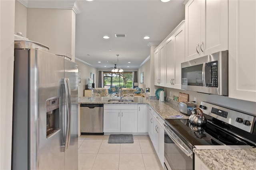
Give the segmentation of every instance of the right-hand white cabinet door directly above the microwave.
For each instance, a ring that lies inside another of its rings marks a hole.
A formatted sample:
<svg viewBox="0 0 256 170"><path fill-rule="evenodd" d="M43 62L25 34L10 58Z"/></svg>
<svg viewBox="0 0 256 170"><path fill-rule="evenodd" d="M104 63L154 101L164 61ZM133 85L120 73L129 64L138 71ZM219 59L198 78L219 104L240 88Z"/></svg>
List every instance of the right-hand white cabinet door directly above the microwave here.
<svg viewBox="0 0 256 170"><path fill-rule="evenodd" d="M201 56L228 49L228 0L206 0L205 8L205 19L201 19Z"/></svg>

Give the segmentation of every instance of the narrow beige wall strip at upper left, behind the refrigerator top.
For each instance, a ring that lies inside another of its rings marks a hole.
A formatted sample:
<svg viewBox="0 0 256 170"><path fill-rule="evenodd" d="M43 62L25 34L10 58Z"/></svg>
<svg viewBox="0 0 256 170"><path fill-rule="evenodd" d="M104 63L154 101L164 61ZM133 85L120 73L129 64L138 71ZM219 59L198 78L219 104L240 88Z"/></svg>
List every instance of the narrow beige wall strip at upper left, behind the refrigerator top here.
<svg viewBox="0 0 256 170"><path fill-rule="evenodd" d="M14 34L17 32L22 32L22 36L27 37L27 8L16 0Z"/></svg>

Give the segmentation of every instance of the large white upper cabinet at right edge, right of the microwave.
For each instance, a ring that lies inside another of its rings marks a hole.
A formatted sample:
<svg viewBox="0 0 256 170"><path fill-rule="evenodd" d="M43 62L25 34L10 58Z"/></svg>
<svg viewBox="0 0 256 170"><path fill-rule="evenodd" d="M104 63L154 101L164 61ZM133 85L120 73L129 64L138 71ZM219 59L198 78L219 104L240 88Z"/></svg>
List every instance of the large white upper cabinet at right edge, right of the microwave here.
<svg viewBox="0 0 256 170"><path fill-rule="evenodd" d="M256 1L228 4L228 97L256 102Z"/></svg>

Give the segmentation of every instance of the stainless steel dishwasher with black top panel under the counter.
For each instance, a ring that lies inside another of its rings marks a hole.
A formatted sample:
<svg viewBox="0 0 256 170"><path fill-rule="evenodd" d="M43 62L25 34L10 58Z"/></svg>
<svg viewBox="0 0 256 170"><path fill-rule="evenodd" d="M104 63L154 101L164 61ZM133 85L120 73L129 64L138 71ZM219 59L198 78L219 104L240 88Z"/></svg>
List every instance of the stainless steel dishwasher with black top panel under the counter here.
<svg viewBox="0 0 256 170"><path fill-rule="evenodd" d="M103 104L80 104L81 134L104 135Z"/></svg>

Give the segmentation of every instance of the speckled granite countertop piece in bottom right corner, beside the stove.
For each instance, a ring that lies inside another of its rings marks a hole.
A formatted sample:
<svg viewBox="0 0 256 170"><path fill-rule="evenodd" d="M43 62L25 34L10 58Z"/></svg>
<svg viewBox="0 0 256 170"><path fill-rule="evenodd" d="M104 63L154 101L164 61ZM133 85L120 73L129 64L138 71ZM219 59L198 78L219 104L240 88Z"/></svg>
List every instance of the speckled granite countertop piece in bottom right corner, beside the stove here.
<svg viewBox="0 0 256 170"><path fill-rule="evenodd" d="M195 149L194 153L210 170L255 170L256 148Z"/></svg>

